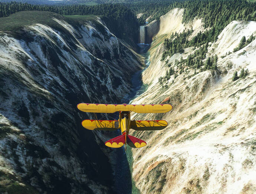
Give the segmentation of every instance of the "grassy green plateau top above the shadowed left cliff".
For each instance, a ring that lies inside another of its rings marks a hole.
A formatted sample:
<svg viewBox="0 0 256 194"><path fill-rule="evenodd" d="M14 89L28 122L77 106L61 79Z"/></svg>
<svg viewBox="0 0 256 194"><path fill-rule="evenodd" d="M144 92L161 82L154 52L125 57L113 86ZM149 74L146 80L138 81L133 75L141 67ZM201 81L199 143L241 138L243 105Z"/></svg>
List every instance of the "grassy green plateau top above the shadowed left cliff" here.
<svg viewBox="0 0 256 194"><path fill-rule="evenodd" d="M58 27L59 24L52 18L62 19L68 23L78 24L88 20L95 20L94 15L72 15L72 16L61 16L57 13L49 11L20 11L14 13L8 17L0 17L0 31L15 31L24 26L32 24L46 24L48 26Z"/></svg>

